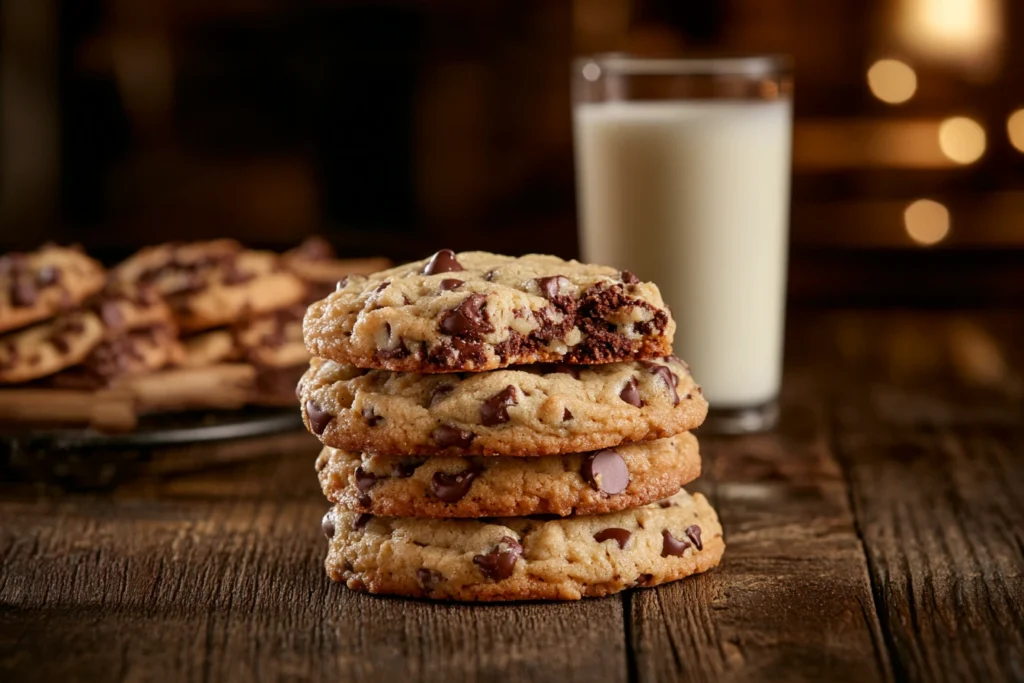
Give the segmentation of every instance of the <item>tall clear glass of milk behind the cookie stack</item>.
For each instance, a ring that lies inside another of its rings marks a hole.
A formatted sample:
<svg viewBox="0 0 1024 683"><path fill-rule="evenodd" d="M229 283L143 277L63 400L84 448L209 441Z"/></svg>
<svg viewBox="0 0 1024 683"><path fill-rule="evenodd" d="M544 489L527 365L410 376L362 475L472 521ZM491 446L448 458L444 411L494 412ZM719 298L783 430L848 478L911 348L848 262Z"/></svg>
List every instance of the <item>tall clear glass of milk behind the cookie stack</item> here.
<svg viewBox="0 0 1024 683"><path fill-rule="evenodd" d="M773 56L573 65L583 258L656 283L720 432L777 419L793 82Z"/></svg>

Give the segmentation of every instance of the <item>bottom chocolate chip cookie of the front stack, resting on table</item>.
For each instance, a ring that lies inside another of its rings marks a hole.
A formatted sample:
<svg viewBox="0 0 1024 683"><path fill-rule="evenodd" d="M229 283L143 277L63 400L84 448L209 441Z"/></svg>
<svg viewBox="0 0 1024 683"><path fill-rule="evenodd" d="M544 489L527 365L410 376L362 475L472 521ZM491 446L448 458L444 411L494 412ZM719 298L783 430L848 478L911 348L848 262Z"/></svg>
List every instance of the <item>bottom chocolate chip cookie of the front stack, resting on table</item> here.
<svg viewBox="0 0 1024 683"><path fill-rule="evenodd" d="M605 515L541 520L324 517L327 572L354 590L437 600L577 600L719 563L715 511L685 490Z"/></svg>

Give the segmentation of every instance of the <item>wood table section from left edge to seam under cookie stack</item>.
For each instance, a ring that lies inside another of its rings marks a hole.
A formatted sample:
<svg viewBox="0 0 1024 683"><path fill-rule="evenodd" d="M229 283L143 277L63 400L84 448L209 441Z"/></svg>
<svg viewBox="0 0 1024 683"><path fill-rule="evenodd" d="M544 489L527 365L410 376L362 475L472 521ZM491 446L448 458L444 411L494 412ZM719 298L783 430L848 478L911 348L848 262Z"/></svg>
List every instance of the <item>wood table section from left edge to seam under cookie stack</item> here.
<svg viewBox="0 0 1024 683"><path fill-rule="evenodd" d="M309 453L0 502L0 680L625 681L618 598L435 605L324 574Z"/></svg>

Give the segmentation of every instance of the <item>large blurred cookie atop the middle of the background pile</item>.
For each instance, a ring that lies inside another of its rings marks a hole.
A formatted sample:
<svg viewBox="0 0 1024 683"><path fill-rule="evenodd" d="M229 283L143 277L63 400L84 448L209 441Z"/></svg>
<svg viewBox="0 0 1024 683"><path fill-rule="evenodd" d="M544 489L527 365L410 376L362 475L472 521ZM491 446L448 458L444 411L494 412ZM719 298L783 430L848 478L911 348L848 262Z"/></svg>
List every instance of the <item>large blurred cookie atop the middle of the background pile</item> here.
<svg viewBox="0 0 1024 683"><path fill-rule="evenodd" d="M298 303L305 287L271 252L232 240L142 249L113 271L119 283L151 285L166 297L182 332L232 325Z"/></svg>

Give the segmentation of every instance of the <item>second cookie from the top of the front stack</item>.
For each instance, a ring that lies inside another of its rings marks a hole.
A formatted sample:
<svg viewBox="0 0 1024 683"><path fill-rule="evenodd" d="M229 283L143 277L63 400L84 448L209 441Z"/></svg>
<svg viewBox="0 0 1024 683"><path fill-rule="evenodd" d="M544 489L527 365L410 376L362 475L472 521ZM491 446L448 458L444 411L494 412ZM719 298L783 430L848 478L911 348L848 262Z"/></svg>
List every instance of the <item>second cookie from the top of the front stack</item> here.
<svg viewBox="0 0 1024 683"><path fill-rule="evenodd" d="M672 436L708 402L675 356L466 375L362 371L313 358L303 419L328 445L378 455L545 456Z"/></svg>

